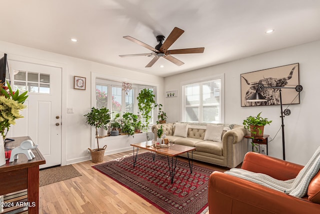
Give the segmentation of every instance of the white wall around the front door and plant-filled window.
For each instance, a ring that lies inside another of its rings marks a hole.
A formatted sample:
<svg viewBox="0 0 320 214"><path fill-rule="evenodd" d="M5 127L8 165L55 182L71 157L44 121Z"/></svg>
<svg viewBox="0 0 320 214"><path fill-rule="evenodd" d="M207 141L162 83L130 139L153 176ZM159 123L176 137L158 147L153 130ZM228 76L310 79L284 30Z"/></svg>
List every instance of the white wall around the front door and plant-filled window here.
<svg viewBox="0 0 320 214"><path fill-rule="evenodd" d="M130 70L119 69L99 63L94 63L82 59L68 57L64 55L45 52L37 49L27 48L0 41L0 54L7 54L8 59L21 60L30 63L39 63L62 68L62 164L70 164L90 159L87 152L94 142L94 132L85 123L84 114L91 108L91 72L101 74L101 76L111 75L129 82L144 81L147 85L158 86L158 94L164 94L163 78L154 75L142 74ZM86 90L73 89L73 76L86 77ZM93 81L94 83L94 81ZM163 97L158 97L158 102L163 102ZM73 114L67 114L66 108L74 108ZM93 133L93 135L91 134ZM135 137L118 136L118 140L125 141L125 147L129 143L137 141L141 136ZM110 142L114 142L113 138ZM107 144L108 140L101 140L101 144ZM114 142L116 143L116 142ZM110 146L112 147L112 146ZM113 151L118 151L113 148ZM108 150L106 151L108 153ZM110 152L109 152L110 153Z"/></svg>

